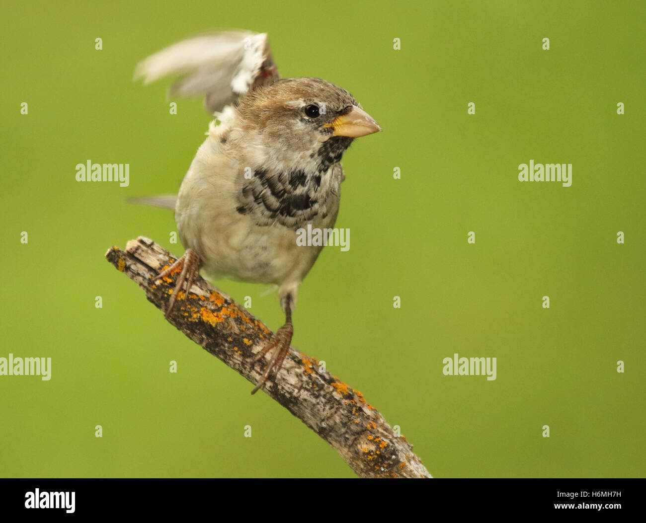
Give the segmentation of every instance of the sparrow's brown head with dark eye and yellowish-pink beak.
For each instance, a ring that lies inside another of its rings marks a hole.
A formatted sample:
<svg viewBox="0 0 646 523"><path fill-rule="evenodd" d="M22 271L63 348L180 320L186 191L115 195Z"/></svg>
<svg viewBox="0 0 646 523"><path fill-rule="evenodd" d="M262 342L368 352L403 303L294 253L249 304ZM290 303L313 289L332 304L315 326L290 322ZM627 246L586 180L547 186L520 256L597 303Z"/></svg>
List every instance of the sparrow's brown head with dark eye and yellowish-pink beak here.
<svg viewBox="0 0 646 523"><path fill-rule="evenodd" d="M277 157L314 163L319 171L339 161L354 138L381 130L348 91L319 78L257 88L240 98L236 112Z"/></svg>

